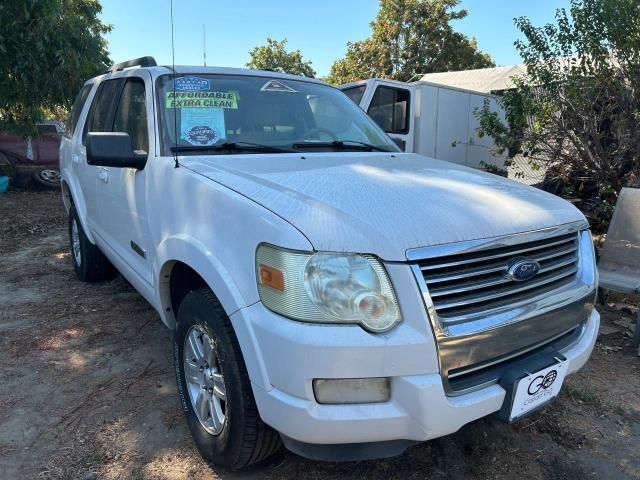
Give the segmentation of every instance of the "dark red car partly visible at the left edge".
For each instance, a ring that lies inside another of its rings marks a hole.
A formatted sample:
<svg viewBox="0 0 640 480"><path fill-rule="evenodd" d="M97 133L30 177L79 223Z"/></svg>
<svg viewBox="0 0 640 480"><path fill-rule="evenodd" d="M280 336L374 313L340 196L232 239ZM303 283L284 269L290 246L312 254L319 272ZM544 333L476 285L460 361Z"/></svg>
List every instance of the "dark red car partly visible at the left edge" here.
<svg viewBox="0 0 640 480"><path fill-rule="evenodd" d="M40 185L60 188L59 150L64 126L43 122L37 128L38 136L27 139L0 132L0 174L31 175Z"/></svg>

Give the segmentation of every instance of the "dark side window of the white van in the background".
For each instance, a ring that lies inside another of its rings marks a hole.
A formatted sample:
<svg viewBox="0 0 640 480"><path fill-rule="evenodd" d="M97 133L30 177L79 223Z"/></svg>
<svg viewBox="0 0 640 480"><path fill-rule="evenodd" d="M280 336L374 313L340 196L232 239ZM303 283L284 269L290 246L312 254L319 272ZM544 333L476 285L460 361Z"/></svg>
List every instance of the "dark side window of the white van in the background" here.
<svg viewBox="0 0 640 480"><path fill-rule="evenodd" d="M378 87L367 113L387 133L409 131L409 90Z"/></svg>

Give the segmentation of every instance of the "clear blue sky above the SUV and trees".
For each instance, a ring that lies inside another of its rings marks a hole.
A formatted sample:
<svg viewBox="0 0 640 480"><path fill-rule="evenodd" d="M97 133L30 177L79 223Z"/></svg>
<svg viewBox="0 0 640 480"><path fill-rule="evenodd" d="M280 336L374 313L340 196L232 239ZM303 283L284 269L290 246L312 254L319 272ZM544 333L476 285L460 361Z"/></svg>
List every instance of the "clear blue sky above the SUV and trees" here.
<svg viewBox="0 0 640 480"><path fill-rule="evenodd" d="M513 19L525 16L535 25L554 20L569 0L463 0L469 15L452 23L475 37L497 65L520 63L513 42L520 37ZM151 55L171 64L170 0L102 0L102 19L113 25L108 35L114 62ZM322 77L344 56L348 41L369 36L377 0L174 0L175 63L244 67L249 51L267 37L288 40L300 49ZM203 42L203 25L206 42Z"/></svg>

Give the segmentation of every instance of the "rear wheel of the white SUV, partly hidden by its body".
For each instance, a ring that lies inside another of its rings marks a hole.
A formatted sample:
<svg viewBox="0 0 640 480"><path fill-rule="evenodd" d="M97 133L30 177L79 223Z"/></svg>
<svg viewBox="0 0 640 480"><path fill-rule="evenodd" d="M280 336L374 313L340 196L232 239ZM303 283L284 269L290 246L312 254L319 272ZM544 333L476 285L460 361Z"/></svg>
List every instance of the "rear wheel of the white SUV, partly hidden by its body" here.
<svg viewBox="0 0 640 480"><path fill-rule="evenodd" d="M101 282L115 276L116 269L111 262L84 233L73 204L69 209L69 248L73 269L81 282Z"/></svg>

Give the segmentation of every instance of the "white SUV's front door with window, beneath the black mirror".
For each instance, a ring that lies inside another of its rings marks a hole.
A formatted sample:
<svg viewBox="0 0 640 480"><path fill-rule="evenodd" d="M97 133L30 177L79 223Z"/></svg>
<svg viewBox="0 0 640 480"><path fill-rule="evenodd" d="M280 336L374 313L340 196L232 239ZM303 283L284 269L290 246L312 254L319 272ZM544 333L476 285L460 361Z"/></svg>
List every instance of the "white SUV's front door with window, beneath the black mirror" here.
<svg viewBox="0 0 640 480"><path fill-rule="evenodd" d="M140 76L138 76L140 75ZM134 150L149 153L153 109L151 78L146 72L125 79L114 107L112 132L125 132ZM98 233L116 255L147 283L152 283L153 249L147 222L147 171L98 167Z"/></svg>

